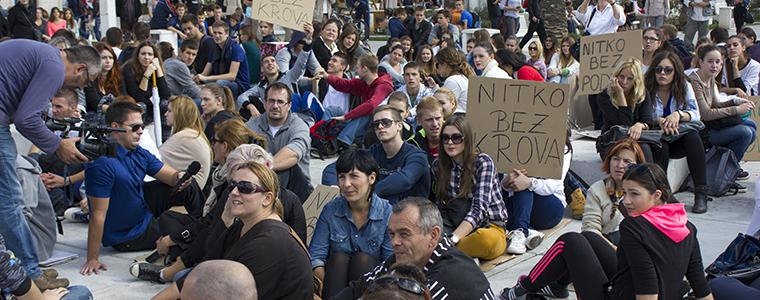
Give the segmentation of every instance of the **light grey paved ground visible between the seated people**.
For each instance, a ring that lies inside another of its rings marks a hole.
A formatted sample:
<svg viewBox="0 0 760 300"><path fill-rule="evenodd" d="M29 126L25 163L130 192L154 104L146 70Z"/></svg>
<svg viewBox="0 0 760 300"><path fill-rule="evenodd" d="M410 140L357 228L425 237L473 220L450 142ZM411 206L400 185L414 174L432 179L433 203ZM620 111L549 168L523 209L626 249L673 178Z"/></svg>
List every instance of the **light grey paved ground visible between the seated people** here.
<svg viewBox="0 0 760 300"><path fill-rule="evenodd" d="M755 30L759 30L760 26ZM733 30L731 30L733 31ZM371 42L373 49L381 46L383 42ZM598 159L594 160L593 142L588 140L576 140L573 142L576 153L577 164L574 163L573 169L584 170L582 176L588 178L601 177L597 173ZM574 159L575 161L575 159ZM330 161L312 160L311 173L313 182L318 183L321 179L321 170ZM736 236L738 232L746 230L752 215L754 207L754 181L760 174L760 163L745 162L742 164L744 169L752 175L750 180L745 182L749 191L745 194L739 194L732 197L722 197L711 202L708 213L704 215L690 214L689 219L699 229L699 240L702 246L702 257L705 265L712 262L715 257L722 252L724 247ZM677 198L690 207L692 204L692 195L690 193L680 193ZM551 243L564 232L579 231L580 221L571 221L562 230L549 237L537 249L517 257L507 263L504 263L486 275L488 276L491 287L494 291L499 291L506 286L511 286L522 274L527 274L531 267L538 261L541 255L551 246ZM64 235L58 237L56 248L60 250L75 252L80 255L77 260L70 261L56 268L61 276L67 277L72 284L82 284L88 286L96 299L147 299L166 285L153 284L148 282L136 281L128 273L128 266L132 260L142 253L118 253L110 248L101 250L101 261L109 266L109 270L100 275L82 276L79 275L79 269L84 263L86 255L87 227L85 224L64 223ZM574 299L574 298L572 298Z"/></svg>

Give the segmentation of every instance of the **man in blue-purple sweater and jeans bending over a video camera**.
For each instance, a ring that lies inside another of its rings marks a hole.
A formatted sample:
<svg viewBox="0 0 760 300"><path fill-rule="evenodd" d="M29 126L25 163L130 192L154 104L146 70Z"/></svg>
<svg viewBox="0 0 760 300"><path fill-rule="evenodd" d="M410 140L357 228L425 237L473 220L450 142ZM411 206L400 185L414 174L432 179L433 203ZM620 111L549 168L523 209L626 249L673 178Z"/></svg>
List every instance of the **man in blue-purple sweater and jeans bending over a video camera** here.
<svg viewBox="0 0 760 300"><path fill-rule="evenodd" d="M100 55L92 47L58 50L35 41L17 39L0 43L0 235L21 260L40 289L56 286L42 275L34 238L22 215L21 185L16 176L16 143L10 125L46 153L66 163L83 163L78 138L61 139L45 127L42 110L62 86L84 87L100 74ZM12 53L12 54L11 54Z"/></svg>

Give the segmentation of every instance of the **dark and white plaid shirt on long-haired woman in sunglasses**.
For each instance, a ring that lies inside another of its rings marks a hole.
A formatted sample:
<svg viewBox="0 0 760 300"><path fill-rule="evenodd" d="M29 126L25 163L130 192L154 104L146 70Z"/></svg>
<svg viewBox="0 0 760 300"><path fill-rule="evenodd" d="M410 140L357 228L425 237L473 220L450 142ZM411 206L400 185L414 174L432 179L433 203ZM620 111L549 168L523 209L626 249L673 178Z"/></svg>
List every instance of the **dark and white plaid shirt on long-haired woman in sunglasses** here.
<svg viewBox="0 0 760 300"><path fill-rule="evenodd" d="M436 165L437 162L436 160ZM437 169L437 167L433 168L435 171ZM462 172L464 172L462 166L454 163L447 189L449 199L456 198L456 195L459 194ZM464 220L476 228L486 221L506 222L507 209L501 195L501 184L493 159L488 154L478 154L472 180L474 180L475 185L472 186L472 191L467 194L467 198L472 199L472 205Z"/></svg>

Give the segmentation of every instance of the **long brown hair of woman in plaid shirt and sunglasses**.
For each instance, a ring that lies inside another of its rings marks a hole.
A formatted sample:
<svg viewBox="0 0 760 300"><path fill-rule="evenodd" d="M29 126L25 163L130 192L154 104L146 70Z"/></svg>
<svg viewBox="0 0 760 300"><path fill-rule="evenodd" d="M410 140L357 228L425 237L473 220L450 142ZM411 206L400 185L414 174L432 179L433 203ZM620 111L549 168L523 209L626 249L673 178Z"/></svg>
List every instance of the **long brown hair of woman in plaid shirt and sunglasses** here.
<svg viewBox="0 0 760 300"><path fill-rule="evenodd" d="M463 116L454 115L443 123L442 128L446 126L454 126L459 129L459 132L464 136L464 151L462 152L462 179L459 181L459 194L454 195L457 198L465 198L472 191L475 182L473 180L475 176L475 161L478 158L478 153L475 150L475 140L472 136L472 129L470 124L467 123L467 119ZM442 131L443 132L443 131ZM449 181L451 180L451 170L454 168L454 159L446 154L446 150L443 149L445 141L441 139L438 144L438 165L436 180L438 186L435 189L436 198L438 200L449 200Z"/></svg>

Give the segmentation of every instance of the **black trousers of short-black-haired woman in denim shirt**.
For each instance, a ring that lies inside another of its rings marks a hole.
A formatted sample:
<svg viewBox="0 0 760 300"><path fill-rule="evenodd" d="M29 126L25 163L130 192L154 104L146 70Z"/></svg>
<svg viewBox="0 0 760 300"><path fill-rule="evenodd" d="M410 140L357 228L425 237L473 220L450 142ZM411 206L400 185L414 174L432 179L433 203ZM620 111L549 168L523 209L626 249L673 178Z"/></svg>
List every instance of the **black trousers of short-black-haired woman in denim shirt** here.
<svg viewBox="0 0 760 300"><path fill-rule="evenodd" d="M354 254L330 253L325 264L325 284L322 299L331 299L347 287L349 282L372 271L377 264L377 258L364 252Z"/></svg>

